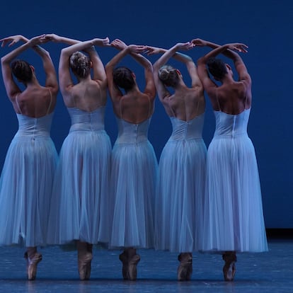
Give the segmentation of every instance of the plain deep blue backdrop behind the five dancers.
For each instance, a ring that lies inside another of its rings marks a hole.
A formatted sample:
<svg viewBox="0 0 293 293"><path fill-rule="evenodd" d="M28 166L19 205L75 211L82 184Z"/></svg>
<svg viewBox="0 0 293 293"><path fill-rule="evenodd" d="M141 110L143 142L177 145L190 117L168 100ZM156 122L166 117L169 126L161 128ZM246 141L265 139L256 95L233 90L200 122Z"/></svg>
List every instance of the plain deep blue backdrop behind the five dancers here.
<svg viewBox="0 0 293 293"><path fill-rule="evenodd" d="M91 3L92 2L92 3ZM284 3L282 3L284 2ZM292 197L292 94L289 69L292 66L293 4L289 1L6 1L1 4L0 37L22 34L28 38L42 33L88 40L94 37L120 38L128 44L171 47L176 42L203 38L223 44L244 42L248 54L242 55L253 79L253 109L248 133L255 145L263 207L267 228L293 228ZM60 44L46 44L57 69ZM0 49L3 56L11 49ZM104 64L117 52L97 48ZM207 52L197 48L188 52L193 59ZM158 56L151 56L155 62ZM35 65L44 81L40 59L25 52L23 59ZM130 58L125 59L143 86L143 71ZM174 63L183 76L185 71ZM185 74L186 76L186 74ZM12 105L0 81L0 167L18 124ZM106 112L106 130L112 142L117 135L110 100ZM59 100L52 125L52 139L59 151L69 130L69 115ZM207 101L204 139L208 145L214 132L214 116ZM171 125L159 100L151 122L149 139L156 155L171 133Z"/></svg>

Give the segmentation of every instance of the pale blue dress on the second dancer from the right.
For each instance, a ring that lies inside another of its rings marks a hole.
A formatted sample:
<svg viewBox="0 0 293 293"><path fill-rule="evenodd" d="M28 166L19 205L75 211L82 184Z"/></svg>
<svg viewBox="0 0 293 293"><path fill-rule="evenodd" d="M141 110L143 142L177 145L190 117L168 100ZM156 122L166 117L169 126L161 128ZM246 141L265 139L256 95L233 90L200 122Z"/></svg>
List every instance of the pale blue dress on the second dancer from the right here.
<svg viewBox="0 0 293 293"><path fill-rule="evenodd" d="M202 240L205 160L202 139L205 114L183 121L170 117L173 132L159 161L156 188L156 249L197 251Z"/></svg>

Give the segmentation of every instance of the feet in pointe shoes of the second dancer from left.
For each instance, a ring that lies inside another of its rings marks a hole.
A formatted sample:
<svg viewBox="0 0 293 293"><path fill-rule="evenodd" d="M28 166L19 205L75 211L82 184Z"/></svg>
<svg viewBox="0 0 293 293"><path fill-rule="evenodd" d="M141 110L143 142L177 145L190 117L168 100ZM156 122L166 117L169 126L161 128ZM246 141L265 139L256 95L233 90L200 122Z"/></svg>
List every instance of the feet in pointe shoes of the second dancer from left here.
<svg viewBox="0 0 293 293"><path fill-rule="evenodd" d="M79 263L79 279L89 280L91 277L93 244L77 241L77 258Z"/></svg>

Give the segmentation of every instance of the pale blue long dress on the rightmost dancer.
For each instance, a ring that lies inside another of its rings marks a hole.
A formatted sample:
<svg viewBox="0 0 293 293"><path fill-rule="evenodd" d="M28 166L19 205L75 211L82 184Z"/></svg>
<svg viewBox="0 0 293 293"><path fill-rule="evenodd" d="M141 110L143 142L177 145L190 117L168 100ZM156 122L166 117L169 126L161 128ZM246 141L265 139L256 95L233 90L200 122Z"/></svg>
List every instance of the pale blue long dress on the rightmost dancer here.
<svg viewBox="0 0 293 293"><path fill-rule="evenodd" d="M214 111L216 130L207 151L203 251L268 250L258 164L247 134L250 112Z"/></svg>

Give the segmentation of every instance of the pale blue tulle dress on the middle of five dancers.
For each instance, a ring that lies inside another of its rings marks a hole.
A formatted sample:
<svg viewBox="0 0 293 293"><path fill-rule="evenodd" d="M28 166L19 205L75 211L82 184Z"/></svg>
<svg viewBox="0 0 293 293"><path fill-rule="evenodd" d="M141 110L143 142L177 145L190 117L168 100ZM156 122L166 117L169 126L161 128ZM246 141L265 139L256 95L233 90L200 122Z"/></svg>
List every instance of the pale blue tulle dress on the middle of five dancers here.
<svg viewBox="0 0 293 293"><path fill-rule="evenodd" d="M150 120L134 124L117 118L111 175L113 248L154 247L157 161L147 138Z"/></svg>

